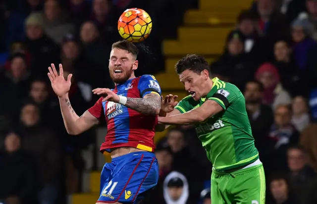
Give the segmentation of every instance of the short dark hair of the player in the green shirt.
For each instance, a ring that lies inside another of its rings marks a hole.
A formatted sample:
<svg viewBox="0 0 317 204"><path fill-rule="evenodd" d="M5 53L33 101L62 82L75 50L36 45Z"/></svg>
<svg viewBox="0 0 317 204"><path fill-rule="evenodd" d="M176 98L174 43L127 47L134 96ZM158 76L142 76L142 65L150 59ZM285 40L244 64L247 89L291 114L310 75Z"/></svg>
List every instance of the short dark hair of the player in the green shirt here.
<svg viewBox="0 0 317 204"><path fill-rule="evenodd" d="M197 54L188 54L175 64L175 71L179 75L185 70L191 70L197 74L200 74L204 70L208 70L209 76L211 71L205 57Z"/></svg>

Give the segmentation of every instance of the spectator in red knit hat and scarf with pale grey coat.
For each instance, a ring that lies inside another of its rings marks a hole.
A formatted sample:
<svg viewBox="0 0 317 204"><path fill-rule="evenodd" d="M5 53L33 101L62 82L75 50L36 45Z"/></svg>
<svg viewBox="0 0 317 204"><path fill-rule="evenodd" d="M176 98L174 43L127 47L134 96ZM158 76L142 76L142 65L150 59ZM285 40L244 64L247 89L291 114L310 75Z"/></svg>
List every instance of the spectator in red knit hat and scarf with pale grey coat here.
<svg viewBox="0 0 317 204"><path fill-rule="evenodd" d="M261 65L255 74L255 79L264 87L264 104L272 106L273 110L279 104L291 104L291 96L280 83L280 75L274 65L270 63Z"/></svg>

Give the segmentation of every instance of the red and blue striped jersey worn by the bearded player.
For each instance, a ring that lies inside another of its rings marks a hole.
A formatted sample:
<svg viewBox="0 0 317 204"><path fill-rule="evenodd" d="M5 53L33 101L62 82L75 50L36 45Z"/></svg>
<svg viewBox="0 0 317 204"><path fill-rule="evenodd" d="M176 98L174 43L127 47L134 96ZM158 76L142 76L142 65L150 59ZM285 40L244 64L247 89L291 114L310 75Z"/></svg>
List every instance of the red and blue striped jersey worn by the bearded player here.
<svg viewBox="0 0 317 204"><path fill-rule="evenodd" d="M161 94L159 82L151 75L143 75L117 84L112 91L130 98L143 98L149 93ZM101 97L88 111L99 120L106 119L107 134L101 152L112 148L135 147L154 152L155 126L158 116L141 114L119 103L102 101Z"/></svg>

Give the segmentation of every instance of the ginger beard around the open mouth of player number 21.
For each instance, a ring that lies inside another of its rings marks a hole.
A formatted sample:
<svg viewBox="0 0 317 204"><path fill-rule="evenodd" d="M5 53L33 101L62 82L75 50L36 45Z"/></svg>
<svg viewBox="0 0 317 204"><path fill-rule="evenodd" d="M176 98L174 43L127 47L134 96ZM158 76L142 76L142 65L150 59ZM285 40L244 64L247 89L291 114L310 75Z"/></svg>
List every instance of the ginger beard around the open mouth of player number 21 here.
<svg viewBox="0 0 317 204"><path fill-rule="evenodd" d="M124 69L122 66L113 66L109 65L109 73L111 80L115 83L124 83L131 78L133 75L133 64L129 69Z"/></svg>

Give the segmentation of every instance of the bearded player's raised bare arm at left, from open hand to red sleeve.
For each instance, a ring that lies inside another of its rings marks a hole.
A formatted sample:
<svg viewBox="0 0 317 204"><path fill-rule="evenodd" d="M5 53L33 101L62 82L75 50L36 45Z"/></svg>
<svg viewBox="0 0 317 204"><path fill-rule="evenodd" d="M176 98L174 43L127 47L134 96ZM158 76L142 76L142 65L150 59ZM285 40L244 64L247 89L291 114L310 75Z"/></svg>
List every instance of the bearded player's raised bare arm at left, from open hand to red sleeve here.
<svg viewBox="0 0 317 204"><path fill-rule="evenodd" d="M68 98L72 75L68 75L67 80L65 80L62 65L59 64L59 75L54 64L51 64L51 66L52 67L49 67L48 76L50 78L53 91L58 96L61 114L68 134L80 134L97 124L99 120L88 111L79 117L72 108Z"/></svg>

